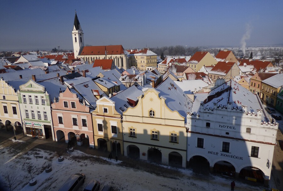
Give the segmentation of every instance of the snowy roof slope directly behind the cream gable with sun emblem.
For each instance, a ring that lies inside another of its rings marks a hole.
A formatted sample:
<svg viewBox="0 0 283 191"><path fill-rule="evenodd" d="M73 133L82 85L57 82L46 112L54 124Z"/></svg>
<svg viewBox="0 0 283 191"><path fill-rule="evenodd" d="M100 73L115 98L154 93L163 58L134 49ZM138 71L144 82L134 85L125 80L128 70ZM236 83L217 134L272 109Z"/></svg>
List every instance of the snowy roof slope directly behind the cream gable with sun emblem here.
<svg viewBox="0 0 283 191"><path fill-rule="evenodd" d="M186 114L191 111L193 102L175 81L167 78L163 83L158 85L156 90L160 92L159 96L165 99L165 104L169 109L179 112L185 118L186 123Z"/></svg>

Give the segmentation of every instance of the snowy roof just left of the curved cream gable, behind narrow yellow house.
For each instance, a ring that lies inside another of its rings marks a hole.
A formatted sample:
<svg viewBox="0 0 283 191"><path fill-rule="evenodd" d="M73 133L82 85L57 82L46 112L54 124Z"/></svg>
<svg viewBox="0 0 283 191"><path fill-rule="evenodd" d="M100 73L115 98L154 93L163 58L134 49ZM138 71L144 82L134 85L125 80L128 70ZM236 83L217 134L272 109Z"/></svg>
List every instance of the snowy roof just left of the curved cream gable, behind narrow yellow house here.
<svg viewBox="0 0 283 191"><path fill-rule="evenodd" d="M118 94L109 99L115 102L116 111L122 115L122 113L126 111L128 107L130 107L128 99L137 101L137 97L140 95L143 95L143 92L133 85L128 89L120 91Z"/></svg>

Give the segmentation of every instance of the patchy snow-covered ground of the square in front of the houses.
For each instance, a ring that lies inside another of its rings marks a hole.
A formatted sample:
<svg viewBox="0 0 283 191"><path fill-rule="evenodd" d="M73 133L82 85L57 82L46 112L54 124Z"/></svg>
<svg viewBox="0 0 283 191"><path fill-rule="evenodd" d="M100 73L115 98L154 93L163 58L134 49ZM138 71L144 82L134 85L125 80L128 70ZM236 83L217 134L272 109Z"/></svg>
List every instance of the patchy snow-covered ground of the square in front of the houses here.
<svg viewBox="0 0 283 191"><path fill-rule="evenodd" d="M17 142L16 144L21 144ZM1 145L0 145L1 146ZM52 151L33 149L24 154L14 153L10 147L0 147L0 175L6 173L17 177L14 190L58 190L71 174L84 173L85 183L80 187L82 191L91 179L96 179L103 185L112 185L115 190L230 190L231 179L218 176L202 176L188 169L178 169L180 176L151 174L143 170L137 170L121 165L121 161L92 156L75 150L64 154L64 161L58 162L58 156ZM52 171L46 173L44 164L47 159L52 159ZM29 186L31 175L27 167L33 166L32 176L37 184ZM170 168L161 166L160 168ZM158 169L158 166L157 168ZM1 177L0 176L0 177ZM4 178L3 178L4 180ZM262 187L253 187L236 181L236 190L263 190Z"/></svg>

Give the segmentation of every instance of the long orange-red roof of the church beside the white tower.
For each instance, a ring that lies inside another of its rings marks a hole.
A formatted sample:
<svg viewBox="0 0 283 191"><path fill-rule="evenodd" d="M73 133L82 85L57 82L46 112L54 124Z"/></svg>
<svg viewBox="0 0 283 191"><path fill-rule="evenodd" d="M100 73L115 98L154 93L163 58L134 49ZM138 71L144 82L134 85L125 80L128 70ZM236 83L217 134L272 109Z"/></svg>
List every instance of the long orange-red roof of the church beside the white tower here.
<svg viewBox="0 0 283 191"><path fill-rule="evenodd" d="M84 46L79 55L111 55L111 54L125 54L122 45L109 46Z"/></svg>

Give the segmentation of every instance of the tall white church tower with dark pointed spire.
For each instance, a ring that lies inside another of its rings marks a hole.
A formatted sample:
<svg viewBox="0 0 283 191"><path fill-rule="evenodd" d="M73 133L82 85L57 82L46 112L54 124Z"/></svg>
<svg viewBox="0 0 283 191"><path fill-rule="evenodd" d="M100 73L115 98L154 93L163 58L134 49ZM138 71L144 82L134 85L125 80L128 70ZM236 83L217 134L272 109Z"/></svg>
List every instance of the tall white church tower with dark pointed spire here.
<svg viewBox="0 0 283 191"><path fill-rule="evenodd" d="M80 48L85 46L84 33L81 30L77 12L75 14L75 21L74 21L74 27L72 30L72 37L73 37L74 55L75 55L75 58L77 58L80 52Z"/></svg>

